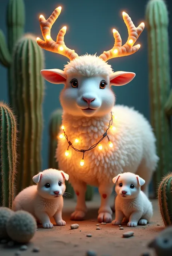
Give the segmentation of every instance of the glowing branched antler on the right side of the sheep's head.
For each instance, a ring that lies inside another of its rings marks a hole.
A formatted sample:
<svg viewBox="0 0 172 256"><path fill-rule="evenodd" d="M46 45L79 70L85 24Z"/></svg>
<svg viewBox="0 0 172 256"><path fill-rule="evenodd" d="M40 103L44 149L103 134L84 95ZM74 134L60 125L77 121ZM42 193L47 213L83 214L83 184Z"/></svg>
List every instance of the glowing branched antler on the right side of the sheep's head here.
<svg viewBox="0 0 172 256"><path fill-rule="evenodd" d="M144 30L144 23L142 22L137 28L133 24L131 18L126 12L122 13L124 23L128 29L128 39L127 42L122 46L122 39L119 32L116 29L113 29L115 43L112 49L107 52L103 52L99 58L102 58L104 61L110 60L111 58L123 57L131 55L137 52L140 48L140 44L134 45L142 31ZM134 46L133 46L134 45Z"/></svg>

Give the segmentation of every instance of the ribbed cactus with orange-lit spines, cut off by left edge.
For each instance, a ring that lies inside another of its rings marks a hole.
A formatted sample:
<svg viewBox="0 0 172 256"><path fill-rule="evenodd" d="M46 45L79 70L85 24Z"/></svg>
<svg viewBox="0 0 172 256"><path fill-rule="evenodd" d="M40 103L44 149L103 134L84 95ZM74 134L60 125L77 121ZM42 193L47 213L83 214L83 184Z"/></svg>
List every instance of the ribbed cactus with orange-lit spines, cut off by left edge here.
<svg viewBox="0 0 172 256"><path fill-rule="evenodd" d="M17 125L9 107L0 102L0 206L12 207L15 196Z"/></svg>

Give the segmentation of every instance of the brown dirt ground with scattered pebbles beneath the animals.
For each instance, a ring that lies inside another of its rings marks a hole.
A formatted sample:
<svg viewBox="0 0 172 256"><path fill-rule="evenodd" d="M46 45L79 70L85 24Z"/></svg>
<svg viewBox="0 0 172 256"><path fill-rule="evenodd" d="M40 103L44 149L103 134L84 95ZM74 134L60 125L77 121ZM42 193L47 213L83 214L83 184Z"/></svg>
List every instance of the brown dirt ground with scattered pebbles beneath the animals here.
<svg viewBox="0 0 172 256"><path fill-rule="evenodd" d="M114 198L111 198L113 205ZM147 243L151 241L158 232L163 229L157 200L152 200L154 215L152 222L146 226L129 228L123 225L123 230L111 223L99 225L100 230L96 230L97 211L100 205L99 195L94 196L94 200L87 202L88 213L86 220L74 222L70 220L70 213L74 210L75 199L64 200L63 219L66 221L65 227L54 226L52 229L43 229L38 226L38 231L28 244L27 251L21 251L21 256L85 256L87 250L97 253L97 256L140 256L148 250ZM114 218L114 214L113 214ZM78 229L70 229L70 225L78 223ZM157 225L160 224L160 225ZM122 233L134 231L134 236L123 238ZM92 237L86 237L91 233ZM40 252L32 252L33 247L39 247ZM20 248L16 245L8 248L7 245L0 245L0 256L12 256Z"/></svg>

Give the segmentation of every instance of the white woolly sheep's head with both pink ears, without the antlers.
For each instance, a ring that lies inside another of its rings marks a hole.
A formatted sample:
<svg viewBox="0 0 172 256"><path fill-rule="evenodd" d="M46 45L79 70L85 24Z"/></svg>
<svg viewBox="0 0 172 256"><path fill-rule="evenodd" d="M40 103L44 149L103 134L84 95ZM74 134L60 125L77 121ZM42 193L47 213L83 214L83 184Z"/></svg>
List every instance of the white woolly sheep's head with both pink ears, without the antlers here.
<svg viewBox="0 0 172 256"><path fill-rule="evenodd" d="M69 62L64 70L41 70L42 76L54 84L65 84L60 102L65 112L77 116L102 116L115 103L112 85L127 84L135 74L113 72L102 59L85 55Z"/></svg>

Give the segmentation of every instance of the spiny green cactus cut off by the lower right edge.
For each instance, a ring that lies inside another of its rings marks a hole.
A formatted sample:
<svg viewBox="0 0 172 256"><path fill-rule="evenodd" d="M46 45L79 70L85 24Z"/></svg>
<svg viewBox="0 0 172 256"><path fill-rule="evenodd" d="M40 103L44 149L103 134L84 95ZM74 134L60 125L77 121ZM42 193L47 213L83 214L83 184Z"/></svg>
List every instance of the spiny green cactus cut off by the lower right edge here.
<svg viewBox="0 0 172 256"><path fill-rule="evenodd" d="M166 175L161 181L158 201L165 226L172 225L172 173Z"/></svg>

